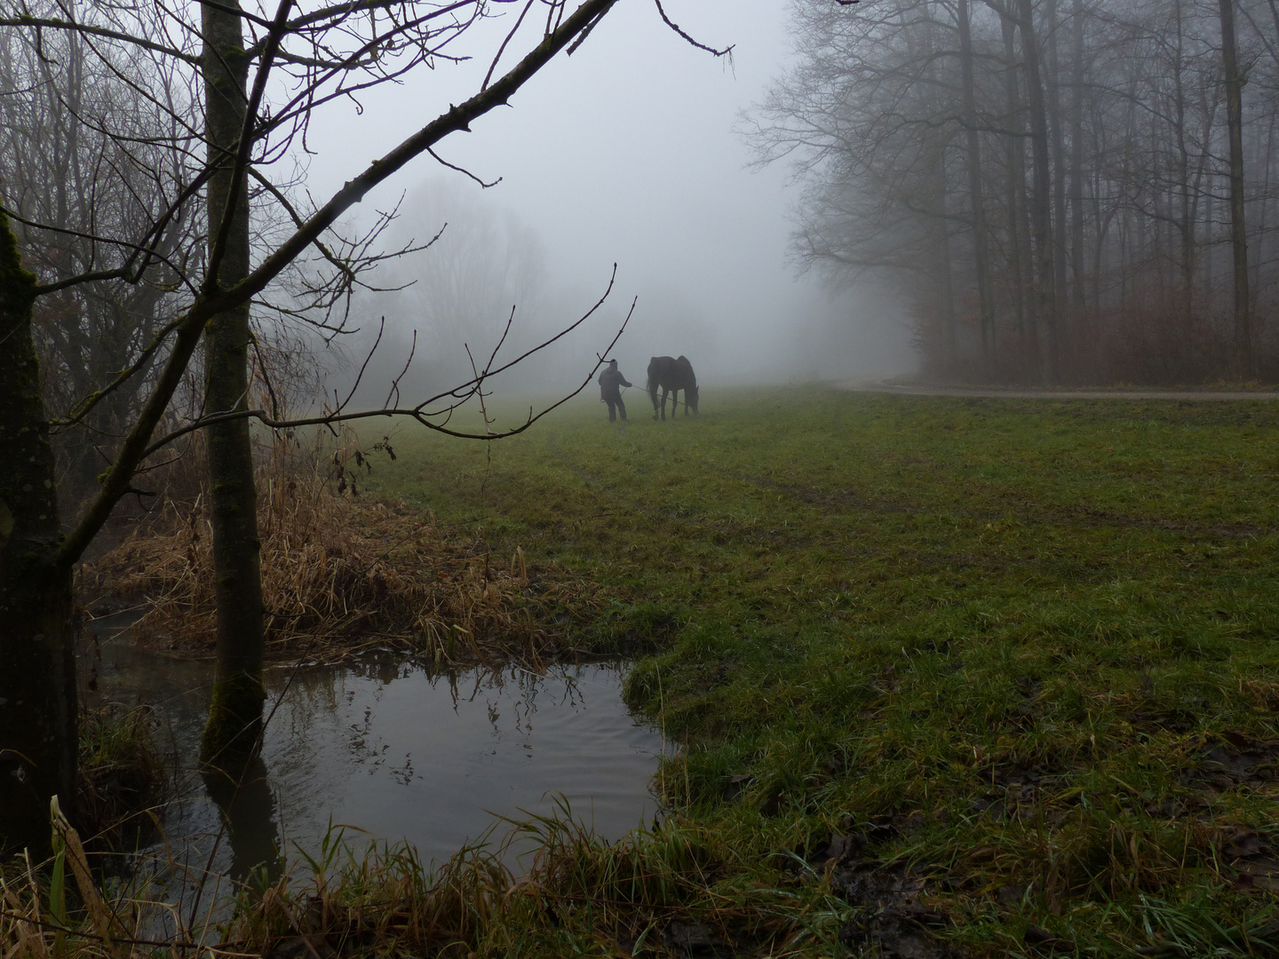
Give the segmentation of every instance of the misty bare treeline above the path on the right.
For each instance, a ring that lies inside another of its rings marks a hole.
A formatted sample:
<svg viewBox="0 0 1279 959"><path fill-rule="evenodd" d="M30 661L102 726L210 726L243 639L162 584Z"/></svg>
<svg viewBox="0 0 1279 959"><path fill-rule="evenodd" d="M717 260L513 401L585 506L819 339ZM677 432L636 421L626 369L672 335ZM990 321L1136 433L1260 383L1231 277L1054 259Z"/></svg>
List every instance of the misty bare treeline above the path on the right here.
<svg viewBox="0 0 1279 959"><path fill-rule="evenodd" d="M798 256L934 375L1279 378L1276 0L796 0L752 116Z"/></svg>

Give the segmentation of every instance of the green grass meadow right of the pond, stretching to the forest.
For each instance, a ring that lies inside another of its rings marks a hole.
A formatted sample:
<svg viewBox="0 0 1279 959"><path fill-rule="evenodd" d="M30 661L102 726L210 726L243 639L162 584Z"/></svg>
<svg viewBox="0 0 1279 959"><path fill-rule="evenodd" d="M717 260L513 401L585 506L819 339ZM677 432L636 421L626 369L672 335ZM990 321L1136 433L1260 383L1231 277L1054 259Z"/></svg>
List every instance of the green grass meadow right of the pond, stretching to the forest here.
<svg viewBox="0 0 1279 959"><path fill-rule="evenodd" d="M718 942L1279 955L1279 404L628 399L372 486L614 597Z"/></svg>

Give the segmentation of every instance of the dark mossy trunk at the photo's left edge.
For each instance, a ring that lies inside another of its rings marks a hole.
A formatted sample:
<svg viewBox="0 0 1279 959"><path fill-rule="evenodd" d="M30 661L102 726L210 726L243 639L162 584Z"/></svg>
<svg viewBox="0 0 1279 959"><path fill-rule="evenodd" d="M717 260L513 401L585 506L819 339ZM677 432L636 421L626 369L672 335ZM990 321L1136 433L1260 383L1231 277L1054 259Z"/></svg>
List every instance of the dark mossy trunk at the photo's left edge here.
<svg viewBox="0 0 1279 959"><path fill-rule="evenodd" d="M75 804L75 621L40 372L36 277L0 211L0 852L49 846L49 799Z"/></svg>

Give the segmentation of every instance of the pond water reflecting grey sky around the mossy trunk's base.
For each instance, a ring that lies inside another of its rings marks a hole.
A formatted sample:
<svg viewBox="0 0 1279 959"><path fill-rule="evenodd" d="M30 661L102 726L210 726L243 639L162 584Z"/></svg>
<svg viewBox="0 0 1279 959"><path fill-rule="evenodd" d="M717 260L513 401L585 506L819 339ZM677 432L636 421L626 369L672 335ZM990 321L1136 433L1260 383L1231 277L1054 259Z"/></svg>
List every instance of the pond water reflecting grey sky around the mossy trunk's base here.
<svg viewBox="0 0 1279 959"><path fill-rule="evenodd" d="M152 703L171 749L193 762L211 664L114 641L93 671L90 698ZM443 861L494 813L553 812L556 793L599 834L620 836L655 812L648 780L663 751L623 706L620 679L601 665L432 674L389 657L271 670L261 763L238 788L188 768L165 832L170 846L194 838L187 868L235 878L275 875L281 849L315 852L331 826Z"/></svg>

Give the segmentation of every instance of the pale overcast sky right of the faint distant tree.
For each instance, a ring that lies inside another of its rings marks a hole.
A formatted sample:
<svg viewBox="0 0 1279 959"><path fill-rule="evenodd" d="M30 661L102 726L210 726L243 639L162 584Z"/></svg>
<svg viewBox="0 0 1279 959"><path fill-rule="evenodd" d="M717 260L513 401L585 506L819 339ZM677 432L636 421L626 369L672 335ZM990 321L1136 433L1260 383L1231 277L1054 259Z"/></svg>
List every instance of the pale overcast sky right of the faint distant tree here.
<svg viewBox="0 0 1279 959"><path fill-rule="evenodd" d="M486 180L501 178L483 201L536 229L555 286L588 297L618 263L614 306L640 297L616 349L632 378L643 376L650 355L679 353L703 384L909 368L904 335L881 332L899 327L883 304L856 295L833 300L816 277L797 277L788 257L797 189L780 165L751 169L751 151L734 132L739 113L784 66L788 4L664 6L698 40L734 45L732 64L686 43L651 0L622 0L573 56L535 77L510 109L448 138L440 155ZM504 63L513 60L508 54ZM310 137L317 151L312 192L335 189L471 96L486 68L477 61L418 70L404 86L372 91L361 116L349 105L326 113ZM365 211L386 208L440 174L435 161L421 160L371 193ZM423 224L418 235L432 226Z"/></svg>

